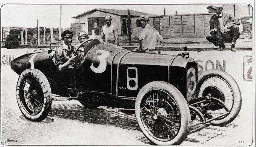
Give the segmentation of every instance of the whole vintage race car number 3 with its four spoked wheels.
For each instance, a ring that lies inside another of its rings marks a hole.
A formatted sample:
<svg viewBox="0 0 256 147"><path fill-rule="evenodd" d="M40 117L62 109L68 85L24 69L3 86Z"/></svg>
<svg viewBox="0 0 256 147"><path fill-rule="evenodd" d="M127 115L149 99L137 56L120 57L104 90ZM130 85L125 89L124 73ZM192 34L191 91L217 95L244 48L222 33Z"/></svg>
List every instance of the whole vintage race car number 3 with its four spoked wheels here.
<svg viewBox="0 0 256 147"><path fill-rule="evenodd" d="M179 55L151 54L86 40L75 51L82 60L63 72L48 52L23 55L11 62L20 75L18 107L31 121L47 117L52 94L89 108L115 107L135 113L142 132L154 144L181 144L197 116L205 124L225 125L241 108L235 80L220 70L198 77L197 62L184 50Z"/></svg>

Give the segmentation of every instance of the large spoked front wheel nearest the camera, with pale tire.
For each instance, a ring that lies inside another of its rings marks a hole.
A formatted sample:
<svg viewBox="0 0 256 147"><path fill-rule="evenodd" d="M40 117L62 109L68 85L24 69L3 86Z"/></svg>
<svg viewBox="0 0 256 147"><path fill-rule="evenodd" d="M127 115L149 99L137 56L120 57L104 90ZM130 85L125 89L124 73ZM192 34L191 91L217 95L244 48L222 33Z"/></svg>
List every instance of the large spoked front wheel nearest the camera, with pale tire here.
<svg viewBox="0 0 256 147"><path fill-rule="evenodd" d="M144 86L137 96L135 112L142 132L155 144L181 144L188 135L187 102L169 83L154 81Z"/></svg>

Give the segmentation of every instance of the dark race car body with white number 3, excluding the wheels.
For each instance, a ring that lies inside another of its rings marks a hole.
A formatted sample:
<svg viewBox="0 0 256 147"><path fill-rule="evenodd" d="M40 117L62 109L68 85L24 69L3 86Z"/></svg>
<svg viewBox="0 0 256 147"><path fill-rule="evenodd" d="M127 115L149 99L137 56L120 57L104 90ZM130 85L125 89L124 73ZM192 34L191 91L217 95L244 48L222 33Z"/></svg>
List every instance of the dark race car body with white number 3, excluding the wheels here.
<svg viewBox="0 0 256 147"><path fill-rule="evenodd" d="M29 68L39 69L53 94L68 96L83 89L88 95L99 95L93 101L105 103L99 100L104 96L107 102L118 102L113 103L115 107L134 108L140 89L152 81L171 83L187 100L196 98L197 63L192 58L134 52L111 43L93 46L77 69L58 71L48 52L23 55L13 60L11 67L17 74Z"/></svg>

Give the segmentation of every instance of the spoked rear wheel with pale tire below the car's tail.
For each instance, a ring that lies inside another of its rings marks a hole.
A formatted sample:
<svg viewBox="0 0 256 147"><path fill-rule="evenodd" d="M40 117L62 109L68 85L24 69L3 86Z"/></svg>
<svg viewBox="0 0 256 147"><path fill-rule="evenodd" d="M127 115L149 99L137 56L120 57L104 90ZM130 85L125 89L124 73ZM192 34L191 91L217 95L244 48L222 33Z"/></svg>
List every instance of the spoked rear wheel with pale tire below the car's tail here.
<svg viewBox="0 0 256 147"><path fill-rule="evenodd" d="M47 117L51 109L51 88L41 71L23 71L17 83L16 95L21 113L28 120L41 121Z"/></svg>

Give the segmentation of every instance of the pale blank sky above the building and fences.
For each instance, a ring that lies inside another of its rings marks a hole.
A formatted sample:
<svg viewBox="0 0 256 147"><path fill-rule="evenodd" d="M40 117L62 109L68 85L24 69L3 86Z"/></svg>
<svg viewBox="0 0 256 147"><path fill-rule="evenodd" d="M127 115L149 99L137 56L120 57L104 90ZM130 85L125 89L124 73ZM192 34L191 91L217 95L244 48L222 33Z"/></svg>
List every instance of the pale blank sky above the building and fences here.
<svg viewBox="0 0 256 147"><path fill-rule="evenodd" d="M75 19L71 17L95 8L136 10L158 15L207 13L209 5L62 5L62 27L67 28ZM59 27L60 5L6 4L1 7L1 27Z"/></svg>

